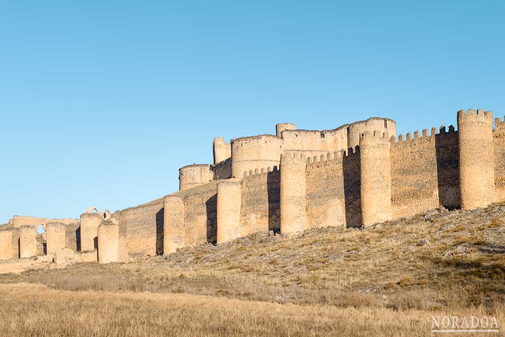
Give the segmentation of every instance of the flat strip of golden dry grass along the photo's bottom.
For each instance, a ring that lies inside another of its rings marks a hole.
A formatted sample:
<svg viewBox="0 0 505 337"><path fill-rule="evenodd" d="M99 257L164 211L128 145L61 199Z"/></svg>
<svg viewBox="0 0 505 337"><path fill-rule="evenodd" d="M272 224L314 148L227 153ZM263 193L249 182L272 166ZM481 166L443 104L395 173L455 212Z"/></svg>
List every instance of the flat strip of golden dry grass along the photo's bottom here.
<svg viewBox="0 0 505 337"><path fill-rule="evenodd" d="M0 332L17 336L425 336L432 315L496 315L504 308L392 310L276 304L197 295L70 292L0 285Z"/></svg>

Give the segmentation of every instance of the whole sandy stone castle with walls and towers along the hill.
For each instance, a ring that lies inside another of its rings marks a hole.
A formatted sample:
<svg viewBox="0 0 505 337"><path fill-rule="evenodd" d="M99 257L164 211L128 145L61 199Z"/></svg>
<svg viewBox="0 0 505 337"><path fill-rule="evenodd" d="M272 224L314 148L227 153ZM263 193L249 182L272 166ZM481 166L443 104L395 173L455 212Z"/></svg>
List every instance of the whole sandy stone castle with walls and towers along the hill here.
<svg viewBox="0 0 505 337"><path fill-rule="evenodd" d="M276 135L229 143L217 137L214 163L181 167L180 190L165 197L112 215L88 210L80 223L15 216L0 227L0 259L40 254L38 224L49 227L47 253L66 246L108 263L257 232L370 226L440 205L484 207L505 199L505 122L494 124L491 111L468 110L458 112L458 130L397 138L395 122L378 117L325 131L282 123Z"/></svg>

